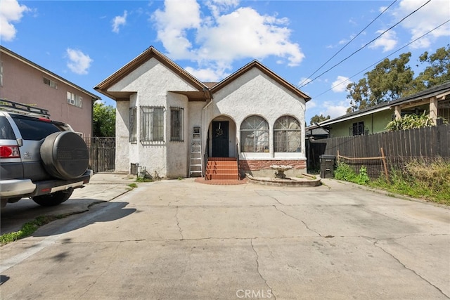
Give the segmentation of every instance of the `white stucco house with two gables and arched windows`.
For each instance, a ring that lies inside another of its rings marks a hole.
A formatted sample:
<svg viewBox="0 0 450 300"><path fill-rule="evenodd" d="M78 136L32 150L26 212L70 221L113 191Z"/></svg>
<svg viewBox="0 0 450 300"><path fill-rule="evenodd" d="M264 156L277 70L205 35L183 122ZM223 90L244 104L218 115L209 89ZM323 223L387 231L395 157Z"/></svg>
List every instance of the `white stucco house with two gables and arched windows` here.
<svg viewBox="0 0 450 300"><path fill-rule="evenodd" d="M241 174L273 176L273 164L306 171L310 98L256 60L203 83L150 47L94 89L117 103L117 172L139 164L162 177L189 176L194 128L202 157L236 157Z"/></svg>

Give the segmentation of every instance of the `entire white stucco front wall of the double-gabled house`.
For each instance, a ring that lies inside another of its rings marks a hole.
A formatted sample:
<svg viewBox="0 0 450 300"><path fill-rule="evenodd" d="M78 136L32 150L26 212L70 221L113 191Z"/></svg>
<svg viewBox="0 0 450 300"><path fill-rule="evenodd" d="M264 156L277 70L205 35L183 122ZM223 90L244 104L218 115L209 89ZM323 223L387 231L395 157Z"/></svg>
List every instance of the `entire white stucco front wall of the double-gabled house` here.
<svg viewBox="0 0 450 300"><path fill-rule="evenodd" d="M212 101L189 102L188 98L176 91L195 91L193 86L181 79L172 70L152 58L108 91L134 92L129 101L117 102L117 154L116 171L129 171L131 163L145 167L150 176L177 178L188 176L193 127L202 131L202 150L205 150L207 129L212 120L228 120L230 127L229 154L236 156L239 128L243 119L250 115L260 115L269 122L270 130L278 117L290 115L302 126L304 141L304 99L283 88L273 79L257 69L250 70L228 86L214 93ZM129 108L140 106L165 107L165 141L141 143L140 110L137 111L137 143L129 143ZM170 107L184 108L184 141L170 141ZM283 159L305 160L304 143L302 151L295 153L273 152L241 153L241 159Z"/></svg>

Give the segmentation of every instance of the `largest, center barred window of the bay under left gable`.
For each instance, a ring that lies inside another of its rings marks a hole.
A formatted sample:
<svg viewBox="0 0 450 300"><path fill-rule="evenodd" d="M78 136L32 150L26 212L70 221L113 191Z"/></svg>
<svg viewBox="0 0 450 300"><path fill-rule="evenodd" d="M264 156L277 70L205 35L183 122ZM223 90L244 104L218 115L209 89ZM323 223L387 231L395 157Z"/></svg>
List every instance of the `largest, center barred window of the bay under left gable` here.
<svg viewBox="0 0 450 300"><path fill-rule="evenodd" d="M164 107L141 106L141 142L164 142Z"/></svg>

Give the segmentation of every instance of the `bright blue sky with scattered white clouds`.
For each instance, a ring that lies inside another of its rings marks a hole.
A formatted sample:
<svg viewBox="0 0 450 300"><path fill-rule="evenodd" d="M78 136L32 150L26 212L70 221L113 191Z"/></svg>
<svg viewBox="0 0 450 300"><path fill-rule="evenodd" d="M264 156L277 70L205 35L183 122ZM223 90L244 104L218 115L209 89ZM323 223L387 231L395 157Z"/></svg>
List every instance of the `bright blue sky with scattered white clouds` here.
<svg viewBox="0 0 450 300"><path fill-rule="evenodd" d="M450 1L0 0L0 44L100 96L154 46L204 82L258 60L307 93L306 122L344 115L346 86L381 60L450 44Z"/></svg>

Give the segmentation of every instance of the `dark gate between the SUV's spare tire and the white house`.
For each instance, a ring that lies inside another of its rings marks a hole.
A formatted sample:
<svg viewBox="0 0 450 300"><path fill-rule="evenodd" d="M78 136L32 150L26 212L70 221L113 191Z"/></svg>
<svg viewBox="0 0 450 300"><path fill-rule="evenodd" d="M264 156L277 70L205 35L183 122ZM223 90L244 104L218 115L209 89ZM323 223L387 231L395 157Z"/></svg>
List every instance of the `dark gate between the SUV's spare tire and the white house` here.
<svg viewBox="0 0 450 300"><path fill-rule="evenodd" d="M89 168L94 173L115 170L115 138L84 138L89 149Z"/></svg>

